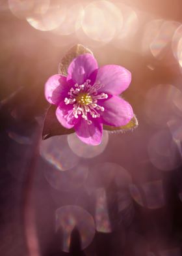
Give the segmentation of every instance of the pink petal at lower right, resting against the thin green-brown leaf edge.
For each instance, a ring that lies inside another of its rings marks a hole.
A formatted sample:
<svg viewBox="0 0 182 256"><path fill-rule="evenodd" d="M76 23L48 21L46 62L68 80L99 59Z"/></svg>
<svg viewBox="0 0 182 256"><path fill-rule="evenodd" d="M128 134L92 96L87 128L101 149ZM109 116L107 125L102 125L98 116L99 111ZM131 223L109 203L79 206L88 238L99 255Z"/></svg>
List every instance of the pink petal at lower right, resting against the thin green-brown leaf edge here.
<svg viewBox="0 0 182 256"><path fill-rule="evenodd" d="M101 104L101 101L99 101L99 104ZM134 116L131 105L118 96L112 96L107 101L103 101L102 105L105 110L100 114L105 125L126 125Z"/></svg>

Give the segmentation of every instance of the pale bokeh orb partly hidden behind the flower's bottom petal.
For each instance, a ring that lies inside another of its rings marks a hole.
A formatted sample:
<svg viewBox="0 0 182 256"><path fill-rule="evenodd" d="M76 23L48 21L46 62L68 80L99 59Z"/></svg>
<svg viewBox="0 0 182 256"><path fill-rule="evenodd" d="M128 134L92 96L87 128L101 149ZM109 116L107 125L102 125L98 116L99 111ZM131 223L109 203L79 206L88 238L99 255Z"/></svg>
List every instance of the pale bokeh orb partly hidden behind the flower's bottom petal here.
<svg viewBox="0 0 182 256"><path fill-rule="evenodd" d="M101 144L97 146L92 146L81 142L81 140L79 140L75 133L68 135L68 144L70 146L70 149L79 157L84 158L96 157L97 155L103 153L107 146L108 140L109 135L107 131L103 131L103 138Z"/></svg>

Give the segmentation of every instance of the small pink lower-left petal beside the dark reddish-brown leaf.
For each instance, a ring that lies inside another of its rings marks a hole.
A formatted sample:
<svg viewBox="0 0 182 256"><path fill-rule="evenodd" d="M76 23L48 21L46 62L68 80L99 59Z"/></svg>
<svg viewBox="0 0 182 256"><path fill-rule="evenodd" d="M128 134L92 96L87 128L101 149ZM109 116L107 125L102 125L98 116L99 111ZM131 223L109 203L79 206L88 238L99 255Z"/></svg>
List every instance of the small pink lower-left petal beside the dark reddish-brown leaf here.
<svg viewBox="0 0 182 256"><path fill-rule="evenodd" d="M73 116L73 105L66 105L64 102L59 104L56 110L56 116L60 124L68 129L72 128L79 121L79 119Z"/></svg>

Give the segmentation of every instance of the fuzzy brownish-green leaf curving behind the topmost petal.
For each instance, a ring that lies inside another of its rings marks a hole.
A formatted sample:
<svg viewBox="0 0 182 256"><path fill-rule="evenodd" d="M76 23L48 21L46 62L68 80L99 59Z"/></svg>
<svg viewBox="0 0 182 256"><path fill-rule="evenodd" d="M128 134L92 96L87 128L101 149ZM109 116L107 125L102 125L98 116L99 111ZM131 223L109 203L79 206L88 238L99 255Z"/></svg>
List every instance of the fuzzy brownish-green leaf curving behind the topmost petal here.
<svg viewBox="0 0 182 256"><path fill-rule="evenodd" d="M81 54L92 54L93 53L86 48L85 46L81 44L76 44L73 46L68 52L65 54L64 57L62 57L60 63L59 63L59 74L62 74L63 76L68 75L68 67L70 63L72 62L75 57L81 55Z"/></svg>

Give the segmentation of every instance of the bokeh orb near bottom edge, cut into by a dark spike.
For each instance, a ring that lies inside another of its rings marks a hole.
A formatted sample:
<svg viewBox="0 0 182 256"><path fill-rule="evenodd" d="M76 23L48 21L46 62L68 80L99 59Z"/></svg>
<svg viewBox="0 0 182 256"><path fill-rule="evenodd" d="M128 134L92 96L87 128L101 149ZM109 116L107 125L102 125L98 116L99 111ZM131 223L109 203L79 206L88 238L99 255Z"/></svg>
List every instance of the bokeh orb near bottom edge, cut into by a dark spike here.
<svg viewBox="0 0 182 256"><path fill-rule="evenodd" d="M77 229L81 240L81 249L85 249L92 242L95 235L93 217L79 206L63 206L56 210L56 227L62 230L62 250L69 252L72 231Z"/></svg>

